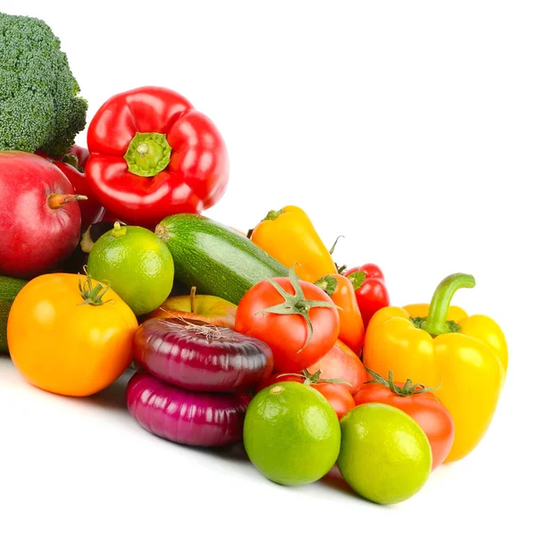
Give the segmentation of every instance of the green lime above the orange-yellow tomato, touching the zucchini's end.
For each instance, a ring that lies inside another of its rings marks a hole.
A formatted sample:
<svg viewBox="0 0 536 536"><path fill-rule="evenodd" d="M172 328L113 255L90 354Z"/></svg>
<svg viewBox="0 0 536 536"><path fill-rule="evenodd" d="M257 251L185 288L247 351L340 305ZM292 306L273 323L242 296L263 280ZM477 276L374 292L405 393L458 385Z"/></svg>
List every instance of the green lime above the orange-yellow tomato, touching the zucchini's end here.
<svg viewBox="0 0 536 536"><path fill-rule="evenodd" d="M97 281L109 282L138 316L163 304L172 291L175 272L170 250L154 232L116 223L91 248L88 273Z"/></svg>

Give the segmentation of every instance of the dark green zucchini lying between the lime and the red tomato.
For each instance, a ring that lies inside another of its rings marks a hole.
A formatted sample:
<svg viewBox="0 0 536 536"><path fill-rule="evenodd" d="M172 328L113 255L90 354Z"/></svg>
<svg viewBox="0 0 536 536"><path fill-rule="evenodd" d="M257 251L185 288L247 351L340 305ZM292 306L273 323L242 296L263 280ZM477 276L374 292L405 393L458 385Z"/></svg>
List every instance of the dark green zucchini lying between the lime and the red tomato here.
<svg viewBox="0 0 536 536"><path fill-rule="evenodd" d="M289 269L239 232L197 214L164 218L155 233L167 244L175 278L198 294L238 305L259 281L284 277Z"/></svg>

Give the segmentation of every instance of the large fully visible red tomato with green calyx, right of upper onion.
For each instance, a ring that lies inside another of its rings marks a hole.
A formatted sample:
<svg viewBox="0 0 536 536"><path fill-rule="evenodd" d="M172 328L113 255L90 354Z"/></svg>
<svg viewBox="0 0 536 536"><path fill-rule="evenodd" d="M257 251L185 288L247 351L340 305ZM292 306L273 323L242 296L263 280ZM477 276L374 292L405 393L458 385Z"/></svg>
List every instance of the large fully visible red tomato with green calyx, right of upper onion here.
<svg viewBox="0 0 536 536"><path fill-rule="evenodd" d="M289 296L284 297L271 281L279 283ZM235 330L261 339L272 348L276 373L298 373L318 361L335 344L339 337L339 313L331 297L313 283L296 279L297 289L288 277L271 281L260 281L242 297ZM297 296L297 291L304 296ZM311 300L331 306L307 303ZM263 313L273 306L281 306L281 314ZM311 331L300 312L309 315L313 325L311 339Z"/></svg>

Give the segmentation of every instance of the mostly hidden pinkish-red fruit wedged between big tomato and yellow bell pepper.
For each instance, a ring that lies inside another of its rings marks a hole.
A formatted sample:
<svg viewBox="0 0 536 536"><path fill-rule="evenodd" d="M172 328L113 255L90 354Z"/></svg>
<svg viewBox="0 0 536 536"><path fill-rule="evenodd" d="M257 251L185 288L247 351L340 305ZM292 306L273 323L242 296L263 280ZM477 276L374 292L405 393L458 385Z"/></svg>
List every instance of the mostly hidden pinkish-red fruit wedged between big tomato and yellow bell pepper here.
<svg viewBox="0 0 536 536"><path fill-rule="evenodd" d="M361 359L344 342L337 340L331 350L316 363L307 367L307 371L314 374L322 371L323 378L338 378L348 381L340 385L355 395L357 390L367 381L366 371Z"/></svg>

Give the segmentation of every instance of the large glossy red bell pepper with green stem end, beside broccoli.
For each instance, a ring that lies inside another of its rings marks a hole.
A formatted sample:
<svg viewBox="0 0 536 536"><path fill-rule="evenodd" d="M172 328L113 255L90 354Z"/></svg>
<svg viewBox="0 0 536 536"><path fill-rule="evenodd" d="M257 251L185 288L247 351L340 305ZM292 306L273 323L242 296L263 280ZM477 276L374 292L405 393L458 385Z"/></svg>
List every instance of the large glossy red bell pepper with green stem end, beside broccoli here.
<svg viewBox="0 0 536 536"><path fill-rule="evenodd" d="M165 216L201 214L229 180L214 123L179 93L147 86L108 99L88 126L86 176L121 222L154 229Z"/></svg>

